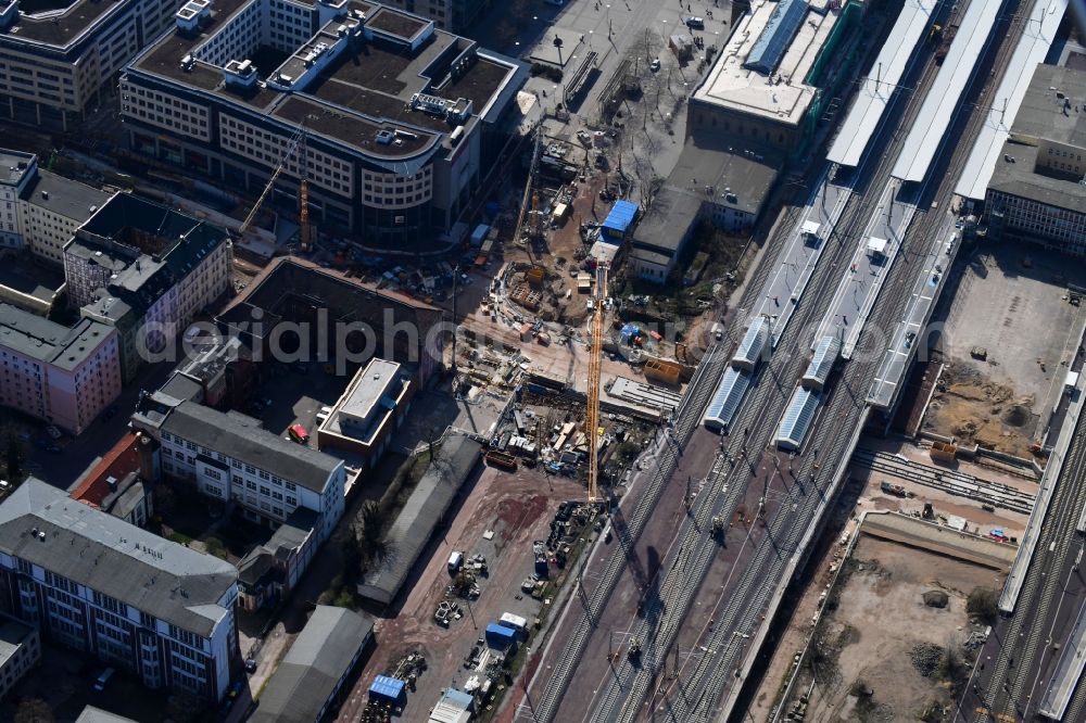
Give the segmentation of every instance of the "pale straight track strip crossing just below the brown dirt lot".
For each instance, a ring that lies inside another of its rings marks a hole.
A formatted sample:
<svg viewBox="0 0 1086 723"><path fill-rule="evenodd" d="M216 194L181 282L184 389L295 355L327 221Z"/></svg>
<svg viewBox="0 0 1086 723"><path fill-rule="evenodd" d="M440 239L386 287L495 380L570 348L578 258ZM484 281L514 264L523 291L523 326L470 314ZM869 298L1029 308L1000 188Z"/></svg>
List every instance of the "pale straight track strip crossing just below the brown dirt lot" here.
<svg viewBox="0 0 1086 723"><path fill-rule="evenodd" d="M1028 515L1034 495L1001 482L981 480L972 474L942 470L911 460L902 460L884 452L857 449L853 464L859 469L881 472L899 480L922 484L958 497L965 497L994 507Z"/></svg>

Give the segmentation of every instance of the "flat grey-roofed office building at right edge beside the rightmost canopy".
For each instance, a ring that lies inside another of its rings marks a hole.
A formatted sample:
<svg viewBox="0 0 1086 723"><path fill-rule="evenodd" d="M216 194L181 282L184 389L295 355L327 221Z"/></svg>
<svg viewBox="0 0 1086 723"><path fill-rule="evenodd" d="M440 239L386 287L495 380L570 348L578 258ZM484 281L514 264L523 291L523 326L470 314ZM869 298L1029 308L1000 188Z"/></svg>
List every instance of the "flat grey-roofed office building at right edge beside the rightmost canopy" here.
<svg viewBox="0 0 1086 723"><path fill-rule="evenodd" d="M1038 65L988 182L993 236L1086 254L1086 71Z"/></svg>

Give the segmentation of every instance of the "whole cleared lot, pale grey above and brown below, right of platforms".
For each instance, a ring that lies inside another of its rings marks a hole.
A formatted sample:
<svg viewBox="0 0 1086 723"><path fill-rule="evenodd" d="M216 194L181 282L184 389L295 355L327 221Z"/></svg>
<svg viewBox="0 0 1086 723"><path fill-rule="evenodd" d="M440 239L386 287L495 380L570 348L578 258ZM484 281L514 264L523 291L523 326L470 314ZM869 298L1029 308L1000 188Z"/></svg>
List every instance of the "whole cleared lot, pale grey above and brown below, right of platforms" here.
<svg viewBox="0 0 1086 723"><path fill-rule="evenodd" d="M1086 269L1037 248L986 244L962 259L939 348L949 363L923 429L1018 456L1047 423L1086 319L1069 284ZM982 347L986 358L974 358Z"/></svg>

